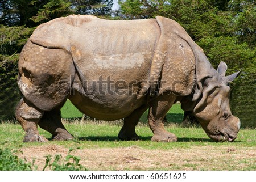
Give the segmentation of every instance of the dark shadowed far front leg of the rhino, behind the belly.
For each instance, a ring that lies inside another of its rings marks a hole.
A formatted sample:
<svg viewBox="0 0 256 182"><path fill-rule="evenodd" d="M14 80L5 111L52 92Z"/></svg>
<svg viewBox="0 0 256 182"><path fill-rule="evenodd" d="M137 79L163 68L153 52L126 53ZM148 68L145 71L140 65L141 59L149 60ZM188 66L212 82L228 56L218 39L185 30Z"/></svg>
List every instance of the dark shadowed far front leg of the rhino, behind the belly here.
<svg viewBox="0 0 256 182"><path fill-rule="evenodd" d="M138 140L139 136L135 132L135 126L138 124L139 118L147 110L148 105L135 109L130 116L125 117L123 127L118 134L118 138L123 141Z"/></svg>

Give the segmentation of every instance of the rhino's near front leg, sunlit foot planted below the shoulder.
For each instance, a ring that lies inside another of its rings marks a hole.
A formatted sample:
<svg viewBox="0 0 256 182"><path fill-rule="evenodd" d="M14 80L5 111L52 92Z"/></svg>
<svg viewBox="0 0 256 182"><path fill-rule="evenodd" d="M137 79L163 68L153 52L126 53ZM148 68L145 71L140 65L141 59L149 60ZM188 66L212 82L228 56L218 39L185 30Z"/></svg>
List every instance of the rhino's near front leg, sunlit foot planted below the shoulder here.
<svg viewBox="0 0 256 182"><path fill-rule="evenodd" d="M167 132L164 129L163 119L166 113L171 108L175 101L175 96L172 95L162 95L158 99L155 99L150 104L148 111L148 124L150 129L154 133L151 141L154 142L176 142L177 137L175 134Z"/></svg>

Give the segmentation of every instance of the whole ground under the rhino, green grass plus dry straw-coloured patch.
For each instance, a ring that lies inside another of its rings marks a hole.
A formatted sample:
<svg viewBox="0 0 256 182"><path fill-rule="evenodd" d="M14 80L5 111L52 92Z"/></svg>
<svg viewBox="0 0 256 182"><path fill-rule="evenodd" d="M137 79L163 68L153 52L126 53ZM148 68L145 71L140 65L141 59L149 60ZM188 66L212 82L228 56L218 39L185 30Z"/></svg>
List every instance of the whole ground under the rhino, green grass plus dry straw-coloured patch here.
<svg viewBox="0 0 256 182"><path fill-rule="evenodd" d="M121 123L76 120L66 121L65 126L75 136L72 141L22 143L20 125L1 124L1 148L22 151L19 158L35 160L38 170L43 170L47 155L52 156L52 164L56 155L65 161L69 149L76 149L72 156L79 157L80 167L88 170L256 170L255 130L242 129L235 142L216 143L201 128L171 124L166 129L176 134L178 142L156 143L150 141L152 132L146 124L137 126L139 141L119 141ZM51 138L48 132L39 132Z"/></svg>

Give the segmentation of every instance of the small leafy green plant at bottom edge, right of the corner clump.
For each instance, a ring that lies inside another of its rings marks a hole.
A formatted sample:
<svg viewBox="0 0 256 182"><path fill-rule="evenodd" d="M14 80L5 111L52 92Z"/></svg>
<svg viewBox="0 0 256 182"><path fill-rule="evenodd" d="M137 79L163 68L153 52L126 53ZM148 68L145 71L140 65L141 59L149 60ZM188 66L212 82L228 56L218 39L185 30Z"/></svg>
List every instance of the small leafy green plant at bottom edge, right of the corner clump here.
<svg viewBox="0 0 256 182"><path fill-rule="evenodd" d="M52 155L47 155L46 164L44 165L43 171L46 170L47 167L49 167L49 169L52 171L85 171L86 168L79 164L81 159L78 156L71 155L71 151L73 151L73 149L69 149L65 162L62 163L61 159L63 156L60 154L53 157L53 162Z"/></svg>

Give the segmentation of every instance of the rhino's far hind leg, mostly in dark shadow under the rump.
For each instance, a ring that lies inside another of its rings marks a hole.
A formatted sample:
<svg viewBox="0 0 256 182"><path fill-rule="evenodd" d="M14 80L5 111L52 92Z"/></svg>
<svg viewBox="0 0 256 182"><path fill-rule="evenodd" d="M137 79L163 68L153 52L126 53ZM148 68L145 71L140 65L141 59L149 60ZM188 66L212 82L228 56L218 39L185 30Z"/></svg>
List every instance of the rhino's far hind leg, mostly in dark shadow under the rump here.
<svg viewBox="0 0 256 182"><path fill-rule="evenodd" d="M44 112L43 117L38 122L40 128L47 130L52 134L52 139L59 141L66 141L73 139L73 136L68 133L67 129L61 122L60 108L52 111Z"/></svg>

